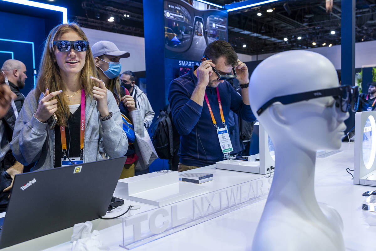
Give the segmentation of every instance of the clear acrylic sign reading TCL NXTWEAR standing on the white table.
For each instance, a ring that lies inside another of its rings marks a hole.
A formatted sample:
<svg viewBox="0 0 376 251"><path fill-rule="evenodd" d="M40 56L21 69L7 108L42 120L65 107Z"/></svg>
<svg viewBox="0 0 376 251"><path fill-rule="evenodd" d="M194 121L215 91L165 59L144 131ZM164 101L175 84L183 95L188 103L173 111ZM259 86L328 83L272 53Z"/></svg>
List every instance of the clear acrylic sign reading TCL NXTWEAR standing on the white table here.
<svg viewBox="0 0 376 251"><path fill-rule="evenodd" d="M123 218L123 243L120 246L136 248L266 199L270 179L257 178Z"/></svg>

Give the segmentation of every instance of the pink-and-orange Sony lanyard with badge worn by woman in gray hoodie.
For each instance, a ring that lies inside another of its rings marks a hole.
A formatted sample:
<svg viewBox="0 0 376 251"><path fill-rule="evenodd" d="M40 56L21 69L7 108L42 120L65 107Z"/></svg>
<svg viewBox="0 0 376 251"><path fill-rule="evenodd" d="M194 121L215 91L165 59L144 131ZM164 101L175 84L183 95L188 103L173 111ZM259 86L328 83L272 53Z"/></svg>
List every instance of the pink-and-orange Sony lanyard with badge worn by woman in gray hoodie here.
<svg viewBox="0 0 376 251"><path fill-rule="evenodd" d="M71 157L67 160L67 140L65 138L65 127L60 126L61 148L63 157L61 158L61 166L69 166L73 164L83 163L83 140L85 137L85 90L81 90L81 114L80 114L80 157ZM73 163L72 163L73 162Z"/></svg>

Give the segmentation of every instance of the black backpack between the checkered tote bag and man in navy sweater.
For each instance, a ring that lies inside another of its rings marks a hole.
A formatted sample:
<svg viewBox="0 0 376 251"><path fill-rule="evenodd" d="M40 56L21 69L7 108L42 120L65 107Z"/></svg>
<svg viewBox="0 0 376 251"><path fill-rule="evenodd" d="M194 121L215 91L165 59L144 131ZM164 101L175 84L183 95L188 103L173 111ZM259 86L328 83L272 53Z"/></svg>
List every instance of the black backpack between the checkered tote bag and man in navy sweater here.
<svg viewBox="0 0 376 251"><path fill-rule="evenodd" d="M174 156L173 125L171 121L171 108L160 110L157 120L153 123L152 142L158 157L170 160Z"/></svg>

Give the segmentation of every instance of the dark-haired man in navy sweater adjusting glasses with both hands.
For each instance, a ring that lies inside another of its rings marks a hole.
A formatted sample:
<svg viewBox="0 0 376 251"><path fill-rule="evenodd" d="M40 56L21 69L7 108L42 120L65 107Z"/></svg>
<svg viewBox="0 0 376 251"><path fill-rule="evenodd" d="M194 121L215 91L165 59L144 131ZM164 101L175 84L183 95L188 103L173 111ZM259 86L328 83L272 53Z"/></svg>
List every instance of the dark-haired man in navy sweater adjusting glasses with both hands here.
<svg viewBox="0 0 376 251"><path fill-rule="evenodd" d="M180 137L178 171L215 164L233 151L227 130L230 110L246 121L255 116L249 106L248 68L232 46L210 43L201 64L170 84L173 123ZM228 82L240 82L241 96Z"/></svg>

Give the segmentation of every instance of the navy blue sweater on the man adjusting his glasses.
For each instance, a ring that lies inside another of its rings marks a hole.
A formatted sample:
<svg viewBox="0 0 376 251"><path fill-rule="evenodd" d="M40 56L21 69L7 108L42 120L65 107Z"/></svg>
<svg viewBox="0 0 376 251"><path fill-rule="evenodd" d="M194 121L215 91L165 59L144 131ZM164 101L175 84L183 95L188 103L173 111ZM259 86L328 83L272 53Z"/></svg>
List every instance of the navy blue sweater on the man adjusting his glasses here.
<svg viewBox="0 0 376 251"><path fill-rule="evenodd" d="M188 166L208 166L223 160L223 153L205 99L202 106L190 99L197 80L193 70L174 79L168 90L168 100L173 123L181 135L178 152L180 163ZM224 81L218 85L218 91L227 128L230 110L243 120L256 120L250 106L243 103L241 96L229 82ZM206 87L206 95L217 125L223 128L217 91L215 88Z"/></svg>

